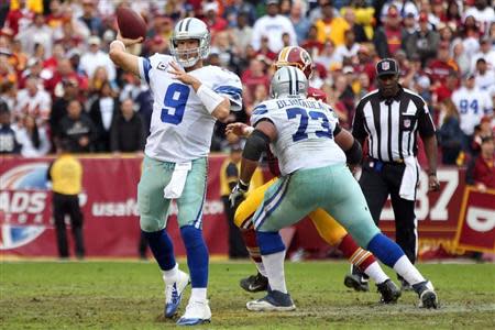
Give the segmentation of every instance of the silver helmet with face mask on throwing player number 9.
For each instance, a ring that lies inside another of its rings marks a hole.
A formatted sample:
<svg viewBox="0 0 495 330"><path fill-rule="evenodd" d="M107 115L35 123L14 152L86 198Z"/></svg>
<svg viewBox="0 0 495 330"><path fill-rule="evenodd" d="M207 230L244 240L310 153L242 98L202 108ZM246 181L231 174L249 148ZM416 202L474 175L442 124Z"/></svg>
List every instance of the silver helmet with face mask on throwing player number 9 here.
<svg viewBox="0 0 495 330"><path fill-rule="evenodd" d="M196 38L199 46L195 50L179 51L177 42L180 40ZM184 67L194 66L200 58L206 58L210 53L210 32L205 22L187 18L177 22L170 36L170 54Z"/></svg>

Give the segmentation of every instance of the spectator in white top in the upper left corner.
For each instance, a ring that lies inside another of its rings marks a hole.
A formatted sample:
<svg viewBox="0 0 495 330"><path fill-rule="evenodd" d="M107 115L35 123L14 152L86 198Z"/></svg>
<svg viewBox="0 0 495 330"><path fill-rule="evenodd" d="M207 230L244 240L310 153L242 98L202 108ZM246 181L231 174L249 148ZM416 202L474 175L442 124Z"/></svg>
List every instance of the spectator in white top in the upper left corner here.
<svg viewBox="0 0 495 330"><path fill-rule="evenodd" d="M28 29L20 30L16 37L21 41L22 48L28 54L34 55L35 46L42 45L46 58L52 56L53 30L45 24L44 15L35 14L33 23Z"/></svg>

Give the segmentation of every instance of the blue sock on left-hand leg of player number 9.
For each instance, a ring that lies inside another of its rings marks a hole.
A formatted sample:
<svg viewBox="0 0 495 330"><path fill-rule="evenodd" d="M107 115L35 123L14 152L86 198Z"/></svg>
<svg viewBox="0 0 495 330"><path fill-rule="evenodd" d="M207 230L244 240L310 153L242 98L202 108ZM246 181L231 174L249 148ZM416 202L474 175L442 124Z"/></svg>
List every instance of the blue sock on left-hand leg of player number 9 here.
<svg viewBox="0 0 495 330"><path fill-rule="evenodd" d="M154 232L142 231L147 240L150 250L155 256L162 271L169 271L175 266L174 245L165 229Z"/></svg>

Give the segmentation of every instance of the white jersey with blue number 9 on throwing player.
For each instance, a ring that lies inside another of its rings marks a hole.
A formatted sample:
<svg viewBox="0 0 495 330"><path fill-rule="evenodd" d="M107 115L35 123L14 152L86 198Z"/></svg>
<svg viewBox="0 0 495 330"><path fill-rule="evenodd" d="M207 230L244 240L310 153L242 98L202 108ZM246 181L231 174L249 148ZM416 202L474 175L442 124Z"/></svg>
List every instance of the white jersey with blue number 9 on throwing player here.
<svg viewBox="0 0 495 330"><path fill-rule="evenodd" d="M168 73L173 61L174 57L162 54L139 61L141 78L153 94L150 136L144 153L155 160L182 163L208 155L217 119L207 111L193 87ZM229 98L232 111L241 110L242 84L235 74L218 66L205 66L189 74Z"/></svg>

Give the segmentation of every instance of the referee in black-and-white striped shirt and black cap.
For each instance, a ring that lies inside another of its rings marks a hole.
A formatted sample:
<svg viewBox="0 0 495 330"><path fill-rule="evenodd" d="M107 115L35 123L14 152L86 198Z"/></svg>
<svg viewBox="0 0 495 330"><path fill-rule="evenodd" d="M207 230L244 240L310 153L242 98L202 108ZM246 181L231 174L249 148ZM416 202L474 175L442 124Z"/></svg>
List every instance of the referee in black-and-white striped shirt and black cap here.
<svg viewBox="0 0 495 330"><path fill-rule="evenodd" d="M437 179L437 138L425 100L398 84L395 59L376 64L378 89L364 96L358 105L352 134L363 145L367 140L360 185L376 224L391 196L395 216L396 242L415 263L417 254L416 188L419 179L418 133L428 158L429 190L440 188ZM403 279L403 289L409 285ZM367 279L353 268L345 283L359 289Z"/></svg>

